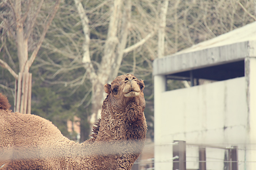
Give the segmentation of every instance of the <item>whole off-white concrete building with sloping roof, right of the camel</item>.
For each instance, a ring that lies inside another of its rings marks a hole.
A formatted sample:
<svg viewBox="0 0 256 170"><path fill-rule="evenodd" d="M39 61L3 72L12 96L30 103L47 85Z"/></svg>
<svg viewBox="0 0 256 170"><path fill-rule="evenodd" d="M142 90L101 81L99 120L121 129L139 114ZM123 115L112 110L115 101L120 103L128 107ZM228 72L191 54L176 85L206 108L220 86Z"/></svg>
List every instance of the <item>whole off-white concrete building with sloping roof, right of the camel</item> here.
<svg viewBox="0 0 256 170"><path fill-rule="evenodd" d="M256 22L156 59L153 74L155 170L173 169L174 140L188 144L187 169L199 169L191 144L235 145L238 169L256 168ZM195 86L166 91L167 79ZM225 152L206 147L206 169L227 169Z"/></svg>

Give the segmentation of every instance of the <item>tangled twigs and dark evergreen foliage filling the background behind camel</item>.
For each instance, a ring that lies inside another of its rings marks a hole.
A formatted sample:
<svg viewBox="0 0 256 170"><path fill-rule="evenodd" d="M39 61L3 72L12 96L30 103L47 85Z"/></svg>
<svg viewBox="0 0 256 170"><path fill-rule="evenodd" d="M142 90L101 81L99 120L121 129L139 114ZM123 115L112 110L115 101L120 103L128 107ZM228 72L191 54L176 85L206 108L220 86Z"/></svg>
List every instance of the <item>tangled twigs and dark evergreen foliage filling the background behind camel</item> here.
<svg viewBox="0 0 256 170"><path fill-rule="evenodd" d="M42 13L40 13L42 18L48 13L47 3L52 3L52 1L45 1ZM105 40L109 32L112 1L82 0L81 3L89 20L90 57L93 69L97 72L104 55ZM152 133L154 128L152 61L158 57L159 34L157 33L161 25L160 12L163 4L164 1L155 0L131 1L131 26L126 47L140 42L149 34L152 35L144 44L124 54L118 72L118 75L135 74L137 78L143 79L145 82L145 116L148 133ZM0 3L0 10L4 8L3 1ZM1 23L3 22L1 18L4 16L3 13L0 14ZM120 15L122 16L122 14L124 11ZM253 0L168 1L163 54L173 54L255 20ZM43 22L39 19L35 26L36 31L33 33L34 39L39 37L42 24ZM119 24L121 25L121 23ZM0 58L14 70L18 70L15 41L11 34L3 30L3 27L0 27ZM33 38L31 43L33 43ZM81 130L84 130L84 136L88 136L91 131L88 117L91 115L93 90L88 70L82 62L84 43L83 26L75 1L63 0L30 68L30 72L33 74L32 113L49 119L61 130L63 135L71 139L74 139L74 136L68 133L66 122L68 119L73 120L74 116L82 118ZM3 44L8 47L9 54ZM1 67L0 73L1 92L9 97L12 104L14 101L14 78ZM167 86L168 89L177 89L184 87L184 84L169 81ZM85 140L85 138L81 140Z"/></svg>

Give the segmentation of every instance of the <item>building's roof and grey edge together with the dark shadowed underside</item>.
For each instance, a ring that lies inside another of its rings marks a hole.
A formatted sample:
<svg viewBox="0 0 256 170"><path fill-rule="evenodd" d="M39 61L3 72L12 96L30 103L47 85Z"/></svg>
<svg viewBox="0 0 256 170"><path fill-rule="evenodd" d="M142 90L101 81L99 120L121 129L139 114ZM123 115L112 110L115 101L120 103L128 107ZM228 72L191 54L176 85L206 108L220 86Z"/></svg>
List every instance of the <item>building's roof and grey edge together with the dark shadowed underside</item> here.
<svg viewBox="0 0 256 170"><path fill-rule="evenodd" d="M224 80L244 76L244 59L256 57L256 22L153 62L153 75ZM179 78L178 78L179 77Z"/></svg>

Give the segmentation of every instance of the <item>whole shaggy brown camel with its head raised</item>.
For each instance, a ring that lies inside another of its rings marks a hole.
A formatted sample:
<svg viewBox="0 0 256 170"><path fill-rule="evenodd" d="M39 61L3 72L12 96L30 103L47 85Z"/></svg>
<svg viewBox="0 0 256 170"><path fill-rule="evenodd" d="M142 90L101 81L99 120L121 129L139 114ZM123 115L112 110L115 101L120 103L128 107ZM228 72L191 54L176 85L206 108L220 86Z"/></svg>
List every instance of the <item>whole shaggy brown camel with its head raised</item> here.
<svg viewBox="0 0 256 170"><path fill-rule="evenodd" d="M104 89L108 95L101 119L93 127L92 138L83 143L64 137L49 120L13 113L0 95L0 170L131 169L147 131L144 83L127 74Z"/></svg>

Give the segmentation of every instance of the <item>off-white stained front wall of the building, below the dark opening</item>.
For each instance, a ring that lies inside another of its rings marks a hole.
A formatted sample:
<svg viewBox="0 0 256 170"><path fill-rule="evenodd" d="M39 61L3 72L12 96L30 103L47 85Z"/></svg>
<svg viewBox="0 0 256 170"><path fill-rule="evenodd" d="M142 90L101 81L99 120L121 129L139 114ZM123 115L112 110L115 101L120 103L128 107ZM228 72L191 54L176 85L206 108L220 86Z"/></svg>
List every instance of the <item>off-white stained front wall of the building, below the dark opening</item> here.
<svg viewBox="0 0 256 170"><path fill-rule="evenodd" d="M173 91L165 91L164 81L164 76L154 76L155 169L172 169L172 146L167 144L173 140L240 144L239 169L244 169L249 119L245 77ZM196 150L187 147L187 169L198 169ZM207 170L223 169L224 150L207 149L206 157Z"/></svg>

